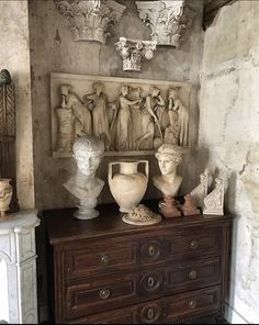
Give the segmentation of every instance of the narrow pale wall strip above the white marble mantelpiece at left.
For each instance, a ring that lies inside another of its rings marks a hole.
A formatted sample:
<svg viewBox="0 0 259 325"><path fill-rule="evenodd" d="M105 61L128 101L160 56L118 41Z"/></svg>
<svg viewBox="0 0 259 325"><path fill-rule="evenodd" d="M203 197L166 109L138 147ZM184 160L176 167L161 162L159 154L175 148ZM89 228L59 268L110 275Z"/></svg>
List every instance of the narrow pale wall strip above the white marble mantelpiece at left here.
<svg viewBox="0 0 259 325"><path fill-rule="evenodd" d="M34 208L27 1L0 1L0 69L15 83L16 181L21 209Z"/></svg>

